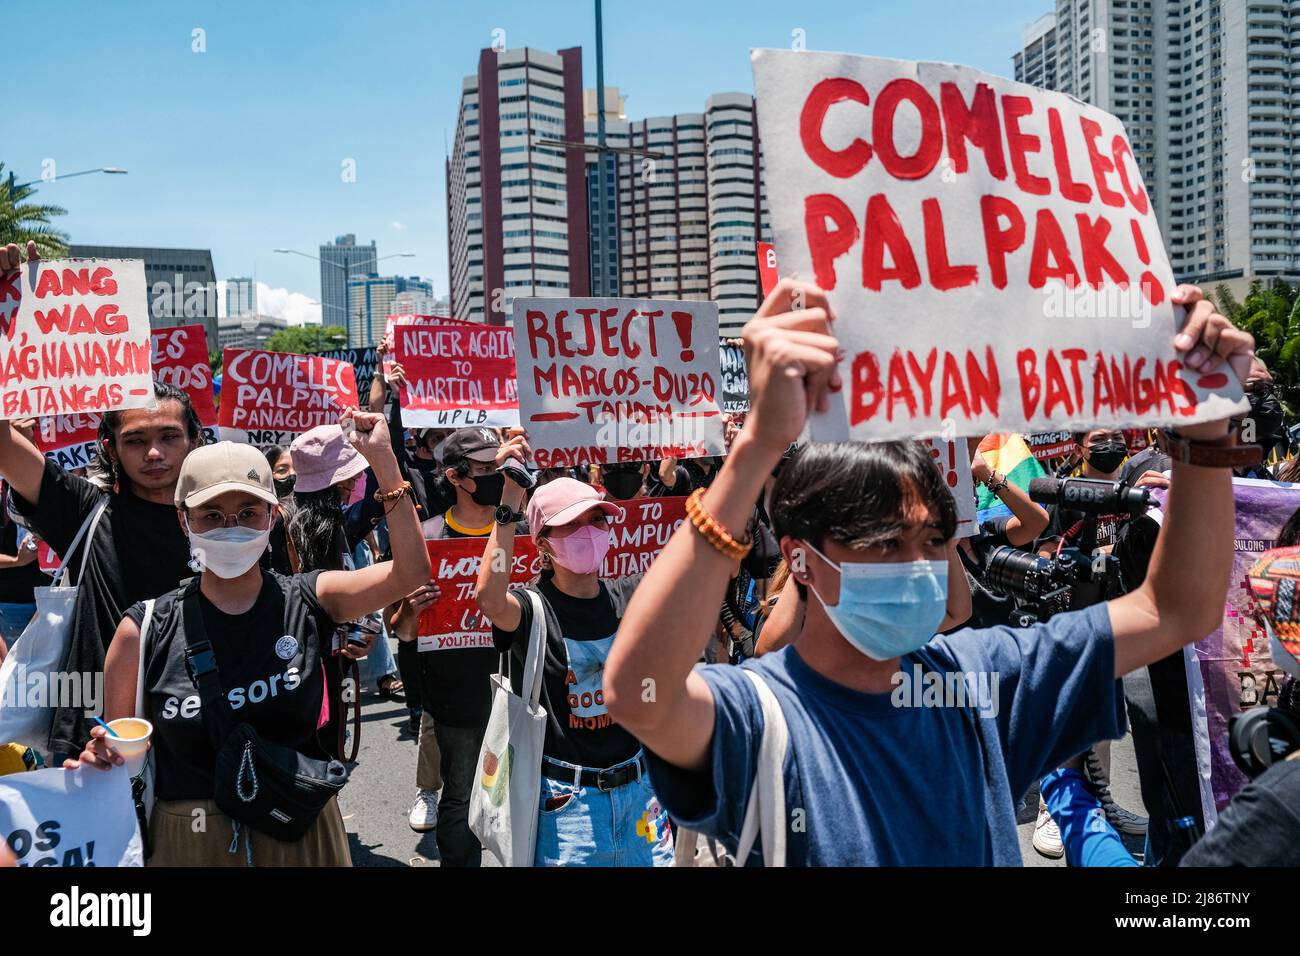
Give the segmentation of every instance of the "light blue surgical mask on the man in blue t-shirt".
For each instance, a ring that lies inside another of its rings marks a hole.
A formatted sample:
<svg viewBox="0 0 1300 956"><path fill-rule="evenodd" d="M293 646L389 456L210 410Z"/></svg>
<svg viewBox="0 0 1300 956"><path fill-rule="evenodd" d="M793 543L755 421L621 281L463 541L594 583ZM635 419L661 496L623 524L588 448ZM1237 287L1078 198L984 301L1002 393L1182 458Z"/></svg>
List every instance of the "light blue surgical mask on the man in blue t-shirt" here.
<svg viewBox="0 0 1300 956"><path fill-rule="evenodd" d="M837 564L812 550L840 572L840 604L812 593L844 639L872 661L910 654L939 631L948 609L946 561Z"/></svg>

